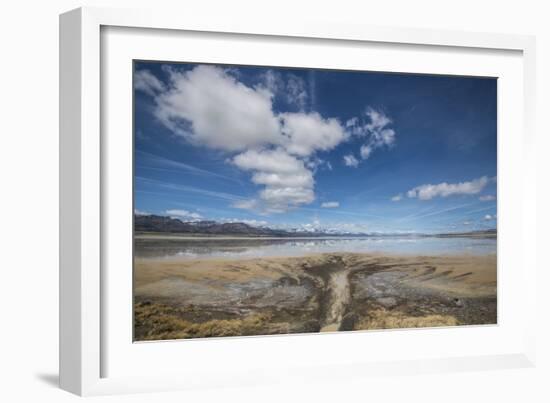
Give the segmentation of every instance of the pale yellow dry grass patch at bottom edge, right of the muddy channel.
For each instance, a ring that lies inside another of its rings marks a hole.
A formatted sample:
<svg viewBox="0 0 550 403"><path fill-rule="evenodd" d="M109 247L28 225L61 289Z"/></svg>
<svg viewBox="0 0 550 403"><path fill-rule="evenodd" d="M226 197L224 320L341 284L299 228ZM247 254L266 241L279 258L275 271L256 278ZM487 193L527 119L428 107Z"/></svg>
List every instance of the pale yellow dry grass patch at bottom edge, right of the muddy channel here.
<svg viewBox="0 0 550 403"><path fill-rule="evenodd" d="M414 327L456 326L458 320L451 315L430 314L425 316L408 316L399 311L376 309L369 312L355 325L355 330L403 329Z"/></svg>

